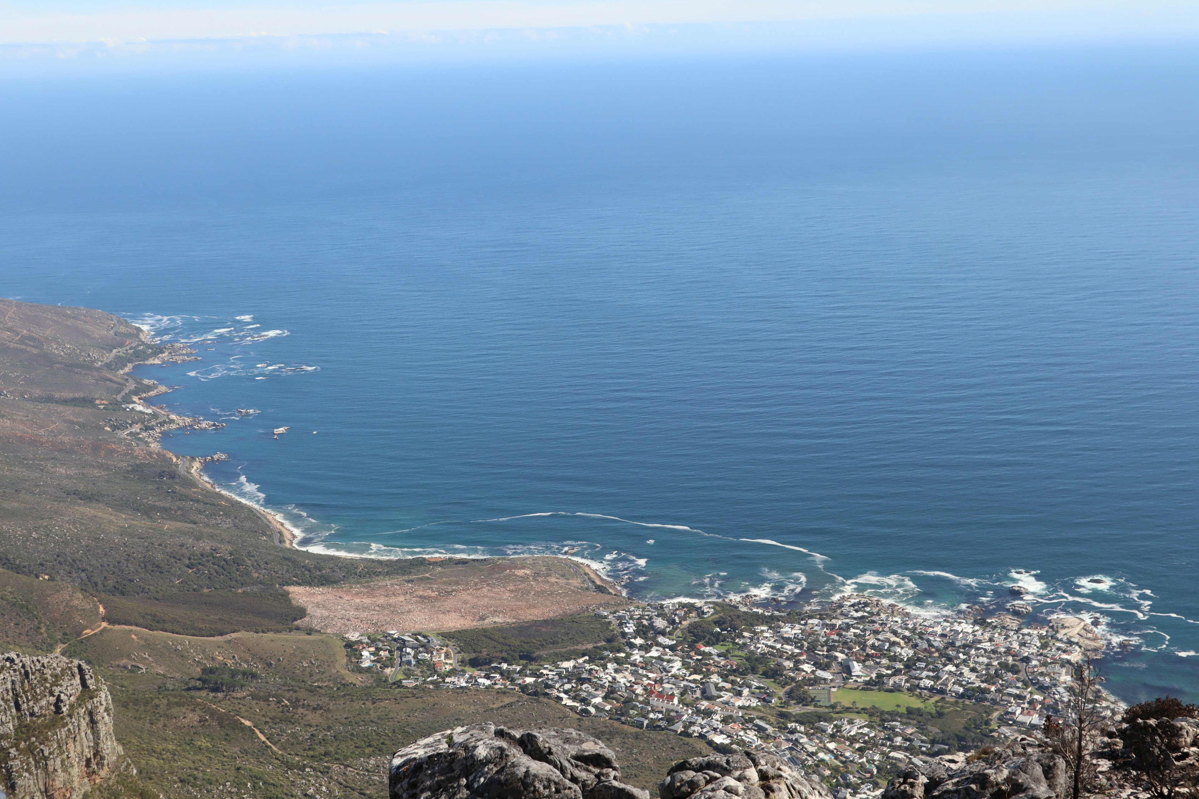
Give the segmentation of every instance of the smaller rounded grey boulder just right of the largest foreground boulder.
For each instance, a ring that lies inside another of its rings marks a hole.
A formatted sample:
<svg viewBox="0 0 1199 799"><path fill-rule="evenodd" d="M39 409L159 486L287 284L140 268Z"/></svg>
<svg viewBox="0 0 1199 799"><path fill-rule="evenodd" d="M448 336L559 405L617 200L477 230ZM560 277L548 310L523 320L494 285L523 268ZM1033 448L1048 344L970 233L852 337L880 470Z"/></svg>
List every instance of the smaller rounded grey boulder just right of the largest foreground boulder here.
<svg viewBox="0 0 1199 799"><path fill-rule="evenodd" d="M661 799L830 799L824 783L808 780L775 755L749 750L680 761L658 785Z"/></svg>

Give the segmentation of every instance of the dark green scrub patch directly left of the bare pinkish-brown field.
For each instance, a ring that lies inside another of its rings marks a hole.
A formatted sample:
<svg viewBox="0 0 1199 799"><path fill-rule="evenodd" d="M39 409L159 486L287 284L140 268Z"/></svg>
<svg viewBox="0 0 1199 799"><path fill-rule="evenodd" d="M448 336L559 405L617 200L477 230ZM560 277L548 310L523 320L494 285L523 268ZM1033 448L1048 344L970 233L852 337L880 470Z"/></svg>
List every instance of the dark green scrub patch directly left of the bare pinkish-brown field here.
<svg viewBox="0 0 1199 799"><path fill-rule="evenodd" d="M151 597L101 597L110 624L179 635L215 636L239 630L293 629L305 610L285 591L207 591Z"/></svg>

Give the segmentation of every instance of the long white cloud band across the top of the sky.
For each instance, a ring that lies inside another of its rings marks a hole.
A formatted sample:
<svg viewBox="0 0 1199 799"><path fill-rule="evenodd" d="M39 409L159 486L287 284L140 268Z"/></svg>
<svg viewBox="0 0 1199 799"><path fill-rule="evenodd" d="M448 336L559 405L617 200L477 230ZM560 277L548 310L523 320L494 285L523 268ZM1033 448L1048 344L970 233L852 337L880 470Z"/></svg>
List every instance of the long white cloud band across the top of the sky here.
<svg viewBox="0 0 1199 799"><path fill-rule="evenodd" d="M825 36L829 30L870 41L935 35L965 42L1040 34L1199 34L1199 4L1165 0L451 0L299 5L305 1L90 13L20 13L0 5L0 46L10 55L53 52L61 56L85 52L85 46L133 53L153 50L162 43L176 50L219 47L222 42L336 49L347 44L336 37L359 37L349 44L379 49L397 42L462 44L470 38L464 35L483 31L498 32L500 40L524 31L529 41L547 41L553 38L547 35L550 31L602 31L610 38L613 32L663 34L664 26L681 26L693 38L710 38L711 30L731 35L736 25L743 25L735 31L742 40L757 37L775 43L788 37L803 41L806 35ZM709 34L700 36L698 30ZM813 35L813 30L818 32ZM475 36L472 41L486 38Z"/></svg>

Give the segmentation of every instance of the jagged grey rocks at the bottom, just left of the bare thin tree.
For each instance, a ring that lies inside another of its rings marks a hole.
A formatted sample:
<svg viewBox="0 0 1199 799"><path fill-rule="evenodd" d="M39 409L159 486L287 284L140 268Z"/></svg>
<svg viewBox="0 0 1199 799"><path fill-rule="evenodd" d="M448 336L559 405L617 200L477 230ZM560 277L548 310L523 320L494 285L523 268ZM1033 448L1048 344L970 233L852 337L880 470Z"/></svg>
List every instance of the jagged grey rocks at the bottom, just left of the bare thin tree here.
<svg viewBox="0 0 1199 799"><path fill-rule="evenodd" d="M966 762L939 757L900 771L882 799L1064 799L1070 793L1066 763L1056 755L1012 749Z"/></svg>

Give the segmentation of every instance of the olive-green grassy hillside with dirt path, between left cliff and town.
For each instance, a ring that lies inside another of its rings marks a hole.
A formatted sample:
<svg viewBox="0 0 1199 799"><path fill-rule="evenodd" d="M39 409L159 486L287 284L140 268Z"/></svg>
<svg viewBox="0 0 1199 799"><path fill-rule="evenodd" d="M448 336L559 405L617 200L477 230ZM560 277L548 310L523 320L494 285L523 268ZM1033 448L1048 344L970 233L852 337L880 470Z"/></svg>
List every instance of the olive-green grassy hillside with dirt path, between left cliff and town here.
<svg viewBox="0 0 1199 799"><path fill-rule="evenodd" d="M351 673L341 641L319 634L197 638L108 628L65 654L85 658L109 682L118 739L140 785L168 798L224 795L225 782L248 782L254 797L309 788L380 797L394 750L477 721L582 730L605 742L628 780L646 788L675 761L710 751L516 691L385 688ZM258 677L234 694L201 690L201 668L221 665Z"/></svg>

